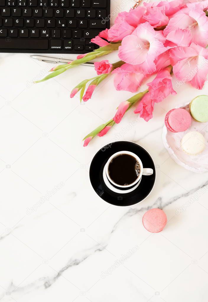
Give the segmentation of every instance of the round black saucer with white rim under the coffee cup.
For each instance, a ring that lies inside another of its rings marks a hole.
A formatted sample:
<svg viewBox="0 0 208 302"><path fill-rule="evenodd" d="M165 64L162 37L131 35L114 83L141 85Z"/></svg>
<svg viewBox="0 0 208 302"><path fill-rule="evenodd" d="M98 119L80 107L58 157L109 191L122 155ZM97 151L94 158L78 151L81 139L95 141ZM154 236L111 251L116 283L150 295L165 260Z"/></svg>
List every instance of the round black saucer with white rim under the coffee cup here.
<svg viewBox="0 0 208 302"><path fill-rule="evenodd" d="M131 151L137 154L143 163L143 167L152 168L154 171L152 175L143 175L138 188L130 193L115 193L106 186L103 180L102 173L107 160L118 151ZM135 143L125 141L110 143L100 149L93 157L89 169L89 178L93 189L103 200L116 206L131 206L145 199L151 192L155 182L154 162L149 153Z"/></svg>

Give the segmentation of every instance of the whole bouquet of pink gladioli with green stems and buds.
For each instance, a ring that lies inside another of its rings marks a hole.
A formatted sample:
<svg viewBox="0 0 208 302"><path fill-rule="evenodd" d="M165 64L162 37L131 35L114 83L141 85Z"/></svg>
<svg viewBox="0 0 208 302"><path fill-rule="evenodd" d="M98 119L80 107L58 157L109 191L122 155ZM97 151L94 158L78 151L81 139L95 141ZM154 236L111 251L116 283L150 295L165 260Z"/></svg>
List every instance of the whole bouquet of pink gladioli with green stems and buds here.
<svg viewBox="0 0 208 302"><path fill-rule="evenodd" d="M38 81L50 79L114 50L119 50L120 61L113 64L108 60L94 63L98 76L79 83L72 90L71 98L80 92L80 101L88 101L97 85L109 74L115 75L116 90L135 93L141 83L155 74L154 80L147 83L145 91L123 101L111 120L83 139L84 146L93 137L105 135L114 123L120 123L125 112L138 101L134 113L145 121L151 119L154 104L163 101L170 94L176 94L171 73L181 83L189 82L193 87L202 89L208 73L207 9L208 0L173 0L144 3L144 6L119 13L110 29L100 32L91 40L99 45L98 49L77 56L69 64L54 67L48 76Z"/></svg>

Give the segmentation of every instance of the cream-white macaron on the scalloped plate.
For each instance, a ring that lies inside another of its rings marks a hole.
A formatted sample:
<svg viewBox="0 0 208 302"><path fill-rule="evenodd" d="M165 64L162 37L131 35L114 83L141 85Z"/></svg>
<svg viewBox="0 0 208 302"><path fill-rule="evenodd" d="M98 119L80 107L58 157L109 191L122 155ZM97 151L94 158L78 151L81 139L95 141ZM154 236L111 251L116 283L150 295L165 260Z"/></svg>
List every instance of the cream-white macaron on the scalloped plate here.
<svg viewBox="0 0 208 302"><path fill-rule="evenodd" d="M186 133L181 142L182 150L189 155L198 155L205 149L205 138L198 131L190 131Z"/></svg>

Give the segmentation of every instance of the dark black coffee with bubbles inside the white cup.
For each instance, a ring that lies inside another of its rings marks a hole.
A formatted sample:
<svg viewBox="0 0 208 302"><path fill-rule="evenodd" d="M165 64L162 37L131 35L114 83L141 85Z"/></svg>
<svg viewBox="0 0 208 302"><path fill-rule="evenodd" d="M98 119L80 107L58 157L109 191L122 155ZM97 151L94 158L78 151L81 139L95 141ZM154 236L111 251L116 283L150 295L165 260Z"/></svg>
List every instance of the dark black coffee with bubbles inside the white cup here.
<svg viewBox="0 0 208 302"><path fill-rule="evenodd" d="M128 154L115 156L109 163L108 173L117 185L131 185L140 174L140 165L135 157Z"/></svg>

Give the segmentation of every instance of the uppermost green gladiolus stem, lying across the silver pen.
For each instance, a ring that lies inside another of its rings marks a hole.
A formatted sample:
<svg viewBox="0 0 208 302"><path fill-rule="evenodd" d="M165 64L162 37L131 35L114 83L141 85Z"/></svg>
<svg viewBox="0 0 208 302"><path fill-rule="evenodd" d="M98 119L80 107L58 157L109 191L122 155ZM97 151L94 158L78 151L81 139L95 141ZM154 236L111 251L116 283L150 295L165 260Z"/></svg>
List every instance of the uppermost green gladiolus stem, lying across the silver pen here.
<svg viewBox="0 0 208 302"><path fill-rule="evenodd" d="M42 79L40 81L36 81L35 83L47 81L48 79L52 79L55 76L60 75L61 73L65 72L67 69L71 69L73 67L79 66L80 64L90 62L100 56L107 55L107 54L111 53L112 51L117 50L120 45L121 45L121 43L108 44L106 46L93 50L90 53L87 53L83 58L76 59L76 60L72 61L70 64L58 65L58 66L54 67L53 71L48 76L46 76L44 79Z"/></svg>

